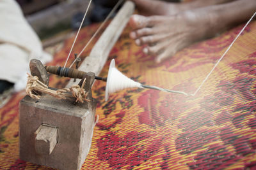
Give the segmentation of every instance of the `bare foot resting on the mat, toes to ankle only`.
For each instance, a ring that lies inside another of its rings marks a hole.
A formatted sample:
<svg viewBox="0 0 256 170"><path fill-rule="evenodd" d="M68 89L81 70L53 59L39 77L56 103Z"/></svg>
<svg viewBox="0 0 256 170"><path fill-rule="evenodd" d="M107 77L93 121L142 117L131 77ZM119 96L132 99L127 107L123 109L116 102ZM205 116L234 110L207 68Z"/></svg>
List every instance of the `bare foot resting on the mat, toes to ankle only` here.
<svg viewBox="0 0 256 170"><path fill-rule="evenodd" d="M211 20L198 17L192 11L172 16L133 15L130 25L134 31L130 37L138 46L147 45L143 52L156 55L156 62L172 57L182 48L205 37Z"/></svg>

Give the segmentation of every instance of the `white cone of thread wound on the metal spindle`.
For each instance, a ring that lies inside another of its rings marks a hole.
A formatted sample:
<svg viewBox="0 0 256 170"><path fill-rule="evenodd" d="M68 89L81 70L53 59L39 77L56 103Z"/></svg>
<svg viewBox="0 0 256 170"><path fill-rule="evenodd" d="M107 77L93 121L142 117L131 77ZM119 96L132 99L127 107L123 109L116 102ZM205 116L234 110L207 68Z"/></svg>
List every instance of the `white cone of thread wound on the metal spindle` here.
<svg viewBox="0 0 256 170"><path fill-rule="evenodd" d="M112 59L108 70L105 101L108 101L109 94L132 87L143 88L140 83L131 80L131 78L118 71L115 67L115 59Z"/></svg>

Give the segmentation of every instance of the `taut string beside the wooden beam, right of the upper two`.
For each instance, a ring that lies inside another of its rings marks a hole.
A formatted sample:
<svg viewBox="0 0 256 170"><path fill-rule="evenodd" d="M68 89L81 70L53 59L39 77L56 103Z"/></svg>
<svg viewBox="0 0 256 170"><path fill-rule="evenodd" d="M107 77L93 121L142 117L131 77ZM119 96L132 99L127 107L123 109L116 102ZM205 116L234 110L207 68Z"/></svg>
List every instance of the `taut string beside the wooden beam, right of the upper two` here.
<svg viewBox="0 0 256 170"><path fill-rule="evenodd" d="M81 54L84 52L84 50L87 48L87 46L92 42L93 38L95 38L95 36L99 33L100 29L102 29L102 27L106 24L106 22L108 21L108 19L111 17L111 15L114 13L114 11L116 10L116 8L118 8L118 6L123 2L124 0L119 0L114 8L110 11L110 13L108 14L108 16L105 18L105 20L102 22L102 24L99 26L99 28L97 29L97 31L95 31L95 33L93 34L92 38L90 38L90 40L88 41L88 43L86 43L86 45L84 46L83 50L81 50L81 52L77 55L77 58L81 56ZM77 59L76 58L76 59ZM72 64L69 66L69 68L71 68L73 66L73 64L76 62L76 59L72 62Z"/></svg>

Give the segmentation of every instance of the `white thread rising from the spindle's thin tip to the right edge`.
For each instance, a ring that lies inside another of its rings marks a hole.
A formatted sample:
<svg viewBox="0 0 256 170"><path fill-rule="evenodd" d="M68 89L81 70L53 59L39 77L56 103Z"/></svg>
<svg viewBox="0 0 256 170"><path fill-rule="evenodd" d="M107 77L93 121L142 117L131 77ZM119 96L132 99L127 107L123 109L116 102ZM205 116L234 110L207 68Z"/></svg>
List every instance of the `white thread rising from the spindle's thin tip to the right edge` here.
<svg viewBox="0 0 256 170"><path fill-rule="evenodd" d="M231 48L231 46L234 44L234 42L236 41L236 39L241 35L241 33L244 31L244 29L247 27L247 25L252 21L252 18L255 16L256 12L252 15L252 17L250 18L250 20L248 20L248 22L244 25L243 29L239 32L239 34L237 34L236 38L234 39L234 41L232 41L232 43L228 46L227 50L223 53L223 55L220 57L220 59L218 60L218 62L216 62L216 64L214 65L214 67L212 67L211 71L209 74L207 74L207 76L205 77L205 79L202 81L202 83L200 84L200 86L198 87L198 89L196 89L194 94L190 94L191 96L195 96L196 93L198 92L198 90L200 90L200 88L204 85L205 81L209 78L209 76L211 75L212 71L214 71L215 67L218 66L218 64L220 63L220 61L223 59L223 57L226 55L226 53L228 52L228 50Z"/></svg>

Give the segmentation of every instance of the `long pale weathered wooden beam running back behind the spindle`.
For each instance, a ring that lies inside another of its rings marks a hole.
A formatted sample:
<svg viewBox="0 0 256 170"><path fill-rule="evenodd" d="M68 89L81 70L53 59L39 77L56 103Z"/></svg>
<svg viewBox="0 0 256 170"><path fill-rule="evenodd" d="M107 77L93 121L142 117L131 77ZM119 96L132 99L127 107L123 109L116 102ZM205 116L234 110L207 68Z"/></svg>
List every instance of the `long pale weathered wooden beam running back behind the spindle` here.
<svg viewBox="0 0 256 170"><path fill-rule="evenodd" d="M131 1L126 1L122 8L113 18L108 28L100 36L97 43L93 46L92 51L88 57L84 59L79 70L85 72L93 72L96 75L100 73L102 67L108 59L109 52L115 45L117 39L122 33L124 27L127 25L129 18L134 12L135 5ZM74 83L73 79L70 80L66 87L71 87Z"/></svg>

